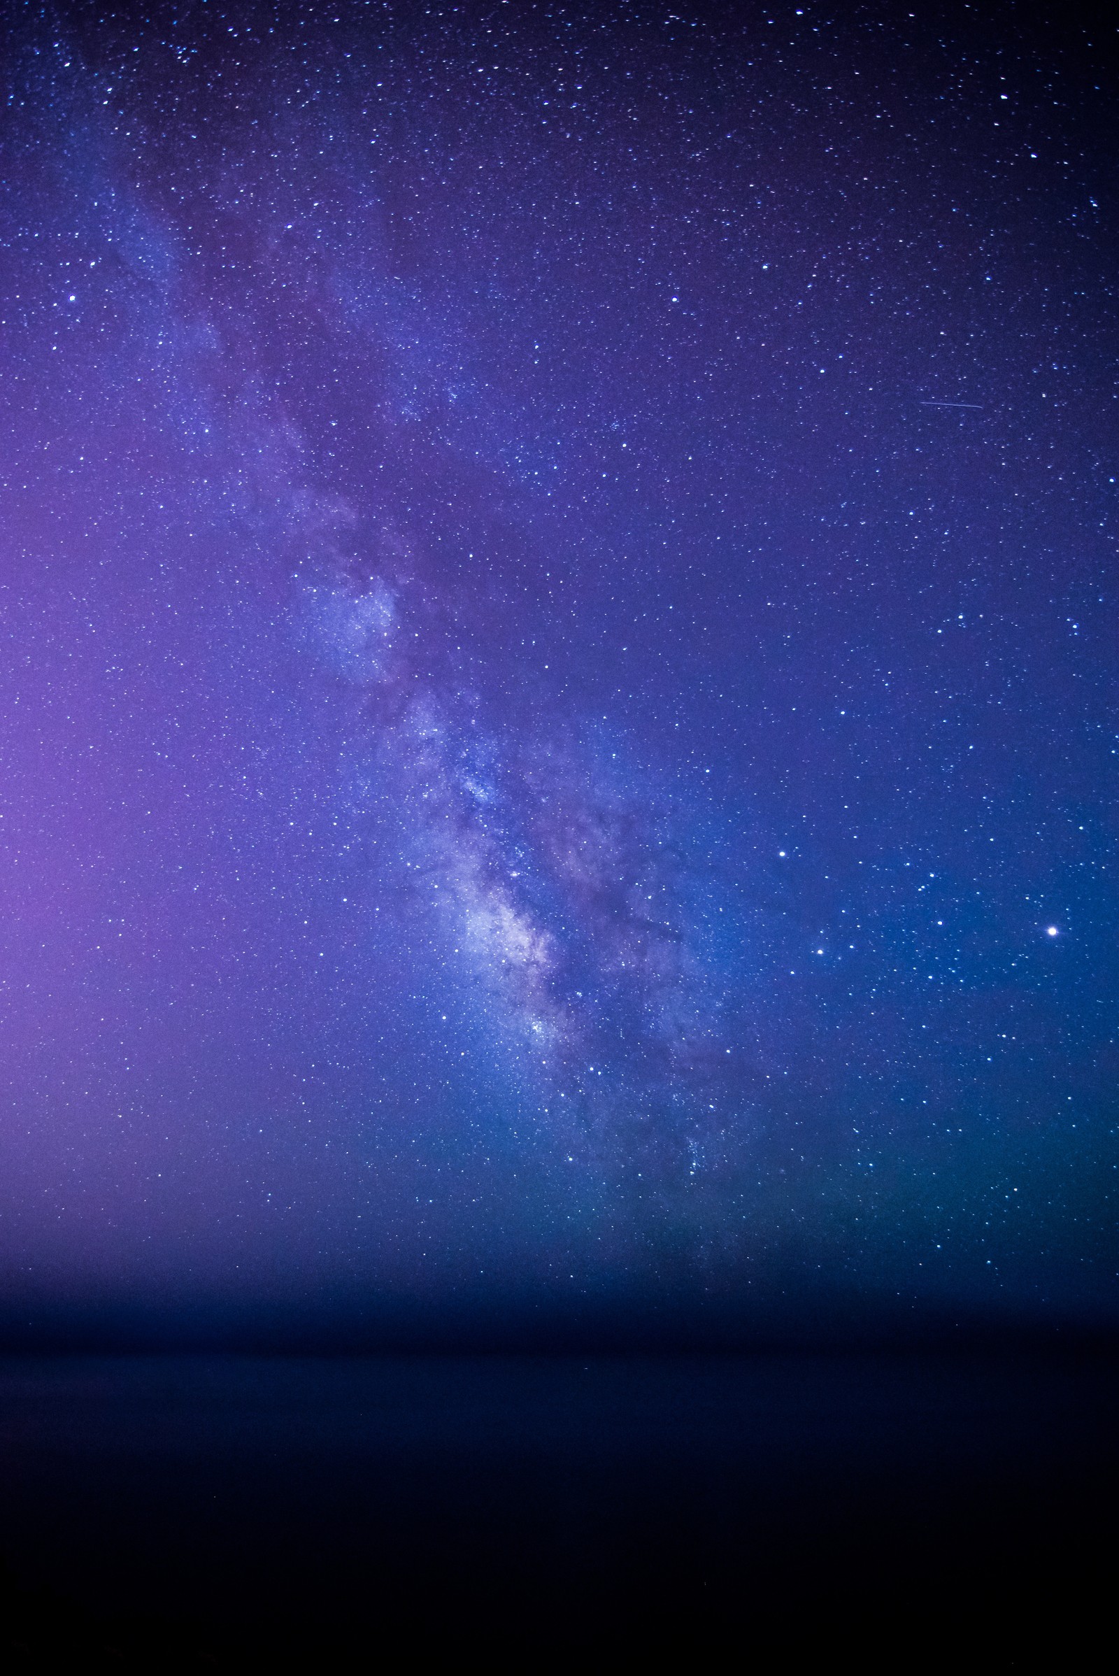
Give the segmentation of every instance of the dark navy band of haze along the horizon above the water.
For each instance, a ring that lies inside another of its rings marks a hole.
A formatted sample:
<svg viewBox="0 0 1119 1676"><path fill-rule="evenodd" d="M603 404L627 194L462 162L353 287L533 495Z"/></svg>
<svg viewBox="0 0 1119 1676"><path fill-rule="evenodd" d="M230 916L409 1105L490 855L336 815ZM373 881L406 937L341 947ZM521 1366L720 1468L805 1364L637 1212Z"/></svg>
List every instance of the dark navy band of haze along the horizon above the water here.
<svg viewBox="0 0 1119 1676"><path fill-rule="evenodd" d="M0 1309L0 1356L672 1356L876 1354L960 1351L992 1356L1119 1351L1109 1317L1034 1309L931 1309L915 1301L774 1289L744 1306L734 1296L648 1289L606 1299L518 1294L503 1301L308 1297L67 1304Z"/></svg>

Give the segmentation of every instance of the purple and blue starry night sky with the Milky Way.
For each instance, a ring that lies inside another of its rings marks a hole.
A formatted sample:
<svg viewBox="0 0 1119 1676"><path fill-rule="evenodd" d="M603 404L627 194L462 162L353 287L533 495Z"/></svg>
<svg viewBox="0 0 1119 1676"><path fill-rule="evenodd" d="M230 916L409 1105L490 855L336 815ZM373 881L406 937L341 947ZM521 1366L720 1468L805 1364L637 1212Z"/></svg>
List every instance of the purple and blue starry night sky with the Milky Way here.
<svg viewBox="0 0 1119 1676"><path fill-rule="evenodd" d="M1114 42L673 3L7 10L8 1306L1114 1322Z"/></svg>

